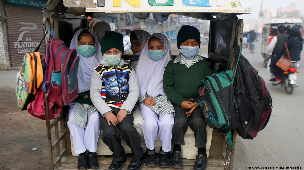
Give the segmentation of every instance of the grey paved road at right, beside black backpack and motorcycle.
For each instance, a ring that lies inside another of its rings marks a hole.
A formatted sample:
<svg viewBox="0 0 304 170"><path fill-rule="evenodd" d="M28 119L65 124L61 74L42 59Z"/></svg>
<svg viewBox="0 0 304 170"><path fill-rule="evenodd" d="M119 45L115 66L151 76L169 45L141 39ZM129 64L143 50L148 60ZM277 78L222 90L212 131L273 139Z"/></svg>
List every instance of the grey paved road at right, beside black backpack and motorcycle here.
<svg viewBox="0 0 304 170"><path fill-rule="evenodd" d="M261 42L255 43L254 54L248 49L243 55L259 71L273 97L273 109L268 125L253 140L237 137L234 169L245 167L302 167L304 168L304 72L296 81L300 86L292 95L285 93L280 86L272 86L270 76L263 67ZM302 51L302 57L304 53ZM299 70L304 71L304 60ZM275 168L277 169L277 168Z"/></svg>

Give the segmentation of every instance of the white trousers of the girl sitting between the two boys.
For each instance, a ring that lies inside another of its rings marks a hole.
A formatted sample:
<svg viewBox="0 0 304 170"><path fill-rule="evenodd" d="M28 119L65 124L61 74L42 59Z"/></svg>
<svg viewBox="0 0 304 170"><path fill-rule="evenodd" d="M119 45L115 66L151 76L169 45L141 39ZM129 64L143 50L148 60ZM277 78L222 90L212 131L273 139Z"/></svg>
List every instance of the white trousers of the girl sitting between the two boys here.
<svg viewBox="0 0 304 170"><path fill-rule="evenodd" d="M159 129L158 136L161 138L161 148L164 152L170 152L172 127L174 125L173 113L160 116L143 104L140 105L140 109L144 121L141 124L141 129L147 148L150 150L155 148L154 143Z"/></svg>

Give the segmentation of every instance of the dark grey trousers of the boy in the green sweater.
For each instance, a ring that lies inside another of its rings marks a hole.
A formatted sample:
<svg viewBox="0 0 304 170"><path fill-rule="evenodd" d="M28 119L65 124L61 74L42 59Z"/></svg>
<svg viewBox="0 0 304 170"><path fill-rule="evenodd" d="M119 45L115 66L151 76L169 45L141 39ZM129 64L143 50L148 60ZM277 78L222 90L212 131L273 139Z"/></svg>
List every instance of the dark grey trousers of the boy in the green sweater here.
<svg viewBox="0 0 304 170"><path fill-rule="evenodd" d="M195 147L206 147L207 132L206 121L202 110L198 107L193 111L192 115L187 117L187 110L181 106L173 104L175 110L174 126L172 128L172 142L178 145L185 145L184 136L188 129L188 125L194 132Z"/></svg>

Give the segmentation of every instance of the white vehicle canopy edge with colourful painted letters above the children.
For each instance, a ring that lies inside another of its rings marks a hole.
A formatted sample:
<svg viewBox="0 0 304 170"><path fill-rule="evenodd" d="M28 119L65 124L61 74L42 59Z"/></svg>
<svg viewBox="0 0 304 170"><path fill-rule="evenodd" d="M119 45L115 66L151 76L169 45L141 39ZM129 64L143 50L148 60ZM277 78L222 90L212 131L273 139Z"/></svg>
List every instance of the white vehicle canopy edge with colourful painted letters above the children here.
<svg viewBox="0 0 304 170"><path fill-rule="evenodd" d="M96 15L171 13L204 20L212 19L212 15L249 14L239 0L53 0L48 1L43 11L75 15L83 15L85 12L95 12Z"/></svg>

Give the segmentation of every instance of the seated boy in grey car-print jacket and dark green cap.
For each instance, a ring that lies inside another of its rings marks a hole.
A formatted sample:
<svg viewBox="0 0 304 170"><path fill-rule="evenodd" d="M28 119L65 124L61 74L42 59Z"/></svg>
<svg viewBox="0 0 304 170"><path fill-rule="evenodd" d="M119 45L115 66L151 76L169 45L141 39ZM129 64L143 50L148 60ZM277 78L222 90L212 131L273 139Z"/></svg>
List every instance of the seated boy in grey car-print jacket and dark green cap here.
<svg viewBox="0 0 304 170"><path fill-rule="evenodd" d="M105 31L101 40L103 60L95 67L91 77L90 96L101 113L102 141L113 152L109 169L120 169L126 162L120 134L131 148L133 159L129 170L139 170L144 161L141 139L133 124L133 108L139 96L134 70L121 56L124 52L123 35ZM117 132L116 127L119 128Z"/></svg>

